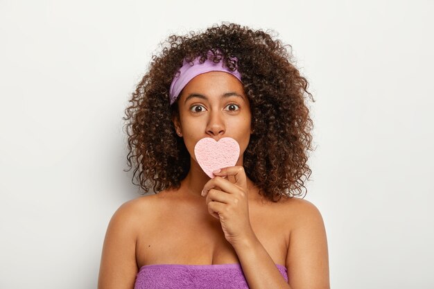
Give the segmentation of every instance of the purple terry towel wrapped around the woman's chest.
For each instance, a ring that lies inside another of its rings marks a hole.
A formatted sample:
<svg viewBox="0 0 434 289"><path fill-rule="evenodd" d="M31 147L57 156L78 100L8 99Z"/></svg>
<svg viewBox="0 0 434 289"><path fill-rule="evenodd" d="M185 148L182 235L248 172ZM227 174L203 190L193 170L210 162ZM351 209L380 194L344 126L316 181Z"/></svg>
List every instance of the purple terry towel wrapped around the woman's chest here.
<svg viewBox="0 0 434 289"><path fill-rule="evenodd" d="M277 269L288 281L286 268L277 264ZM249 289L241 265L144 265L137 273L134 289Z"/></svg>

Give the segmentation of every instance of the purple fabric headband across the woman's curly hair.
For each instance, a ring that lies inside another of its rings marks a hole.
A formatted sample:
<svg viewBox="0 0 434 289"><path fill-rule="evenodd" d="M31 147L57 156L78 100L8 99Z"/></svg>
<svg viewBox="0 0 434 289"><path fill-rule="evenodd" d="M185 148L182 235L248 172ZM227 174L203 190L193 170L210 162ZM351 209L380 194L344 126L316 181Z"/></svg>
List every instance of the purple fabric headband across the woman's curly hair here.
<svg viewBox="0 0 434 289"><path fill-rule="evenodd" d="M233 76L235 76L236 78L238 78L238 80L241 81L241 73L239 73L238 70L232 71L227 67L223 67L223 60L218 63L214 63L212 61L213 53L211 51L207 52L207 56L207 60L205 60L205 62L203 62L202 64L200 64L199 62L200 58L196 58L195 60L193 60L193 65L189 64L189 62L186 62L184 58L182 67L178 74L173 78L171 83L171 89L169 90L171 105L175 103L176 98L180 95L180 92L187 85L187 83L189 83L190 80L192 80L199 74L209 71L223 71L231 73ZM232 57L229 59L234 60L235 63L238 62L238 59L236 57Z"/></svg>

